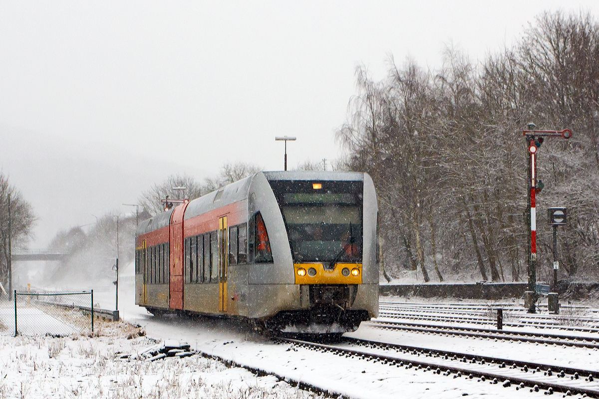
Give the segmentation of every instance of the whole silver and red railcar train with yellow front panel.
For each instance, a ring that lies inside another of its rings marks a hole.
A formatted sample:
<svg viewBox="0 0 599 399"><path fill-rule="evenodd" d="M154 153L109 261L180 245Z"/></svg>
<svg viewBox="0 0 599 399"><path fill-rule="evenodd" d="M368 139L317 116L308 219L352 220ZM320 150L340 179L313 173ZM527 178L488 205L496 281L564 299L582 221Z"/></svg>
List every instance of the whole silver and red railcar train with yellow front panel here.
<svg viewBox="0 0 599 399"><path fill-rule="evenodd" d="M367 173L258 172L140 222L135 304L272 333L355 331L379 312Z"/></svg>

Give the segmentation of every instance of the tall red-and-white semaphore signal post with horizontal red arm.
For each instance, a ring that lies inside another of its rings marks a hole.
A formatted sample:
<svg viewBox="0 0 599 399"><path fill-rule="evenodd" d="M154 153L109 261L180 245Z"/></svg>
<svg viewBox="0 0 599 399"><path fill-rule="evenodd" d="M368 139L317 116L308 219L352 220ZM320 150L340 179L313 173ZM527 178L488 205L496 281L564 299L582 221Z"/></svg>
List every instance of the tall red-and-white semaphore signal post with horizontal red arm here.
<svg viewBox="0 0 599 399"><path fill-rule="evenodd" d="M527 216L528 224L528 244L530 254L528 256L528 291L524 293L524 306L528 313L536 313L536 301L538 298L535 292L537 284L537 215L536 215L536 194L540 193L544 185L540 179L537 179L537 152L545 138L561 137L569 139L572 136L570 129L564 130L535 130L534 123L528 124L528 130L522 133L526 138L528 147L528 208L530 213Z"/></svg>

